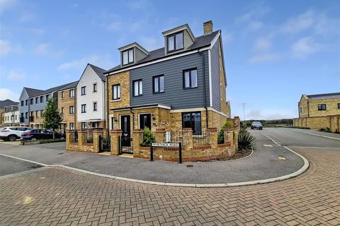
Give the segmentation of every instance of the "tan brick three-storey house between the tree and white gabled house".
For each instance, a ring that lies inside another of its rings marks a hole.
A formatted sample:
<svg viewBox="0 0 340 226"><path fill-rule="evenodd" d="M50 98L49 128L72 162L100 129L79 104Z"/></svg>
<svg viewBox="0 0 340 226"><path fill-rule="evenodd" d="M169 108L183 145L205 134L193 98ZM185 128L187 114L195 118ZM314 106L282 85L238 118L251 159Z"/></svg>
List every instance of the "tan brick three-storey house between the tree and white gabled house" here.
<svg viewBox="0 0 340 226"><path fill-rule="evenodd" d="M77 129L77 82L64 86L58 91L58 109L62 113L60 131Z"/></svg>

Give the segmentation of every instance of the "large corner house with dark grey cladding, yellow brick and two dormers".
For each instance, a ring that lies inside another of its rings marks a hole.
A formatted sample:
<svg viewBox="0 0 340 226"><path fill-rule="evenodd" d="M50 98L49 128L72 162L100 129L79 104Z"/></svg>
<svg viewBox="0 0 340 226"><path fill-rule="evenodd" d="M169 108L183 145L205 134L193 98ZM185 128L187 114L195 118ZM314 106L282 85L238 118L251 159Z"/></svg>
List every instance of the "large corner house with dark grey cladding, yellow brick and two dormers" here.
<svg viewBox="0 0 340 226"><path fill-rule="evenodd" d="M105 71L109 129L181 131L220 129L229 116L221 30L212 21L203 35L188 24L162 32L164 47L148 51L137 42L120 47L120 64ZM79 86L78 86L79 88Z"/></svg>

